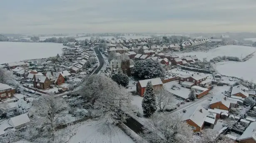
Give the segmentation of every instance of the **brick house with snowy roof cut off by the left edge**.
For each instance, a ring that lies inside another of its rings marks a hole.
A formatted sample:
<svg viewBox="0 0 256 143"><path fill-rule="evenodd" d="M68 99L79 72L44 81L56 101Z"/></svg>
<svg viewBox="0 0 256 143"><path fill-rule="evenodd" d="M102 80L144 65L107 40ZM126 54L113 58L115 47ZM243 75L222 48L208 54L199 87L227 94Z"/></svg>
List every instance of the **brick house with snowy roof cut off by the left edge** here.
<svg viewBox="0 0 256 143"><path fill-rule="evenodd" d="M9 85L5 85L0 83L0 99L6 99L13 97L15 94L16 90Z"/></svg>

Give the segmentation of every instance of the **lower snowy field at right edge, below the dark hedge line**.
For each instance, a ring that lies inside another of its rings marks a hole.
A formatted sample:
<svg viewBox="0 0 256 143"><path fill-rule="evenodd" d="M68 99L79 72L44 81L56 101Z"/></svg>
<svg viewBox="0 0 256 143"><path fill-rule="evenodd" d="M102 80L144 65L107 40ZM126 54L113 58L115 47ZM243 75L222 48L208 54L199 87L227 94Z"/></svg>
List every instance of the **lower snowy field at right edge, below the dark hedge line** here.
<svg viewBox="0 0 256 143"><path fill-rule="evenodd" d="M222 75L243 78L244 80L256 82L256 53L252 58L245 62L220 62L216 64L216 70Z"/></svg>

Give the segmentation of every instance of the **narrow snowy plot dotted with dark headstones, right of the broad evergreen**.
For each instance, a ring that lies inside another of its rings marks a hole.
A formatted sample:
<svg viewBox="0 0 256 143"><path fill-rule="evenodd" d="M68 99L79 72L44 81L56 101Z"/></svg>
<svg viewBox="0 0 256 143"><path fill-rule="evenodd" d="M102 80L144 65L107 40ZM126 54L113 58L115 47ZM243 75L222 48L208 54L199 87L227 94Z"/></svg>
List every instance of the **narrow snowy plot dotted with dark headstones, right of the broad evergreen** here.
<svg viewBox="0 0 256 143"><path fill-rule="evenodd" d="M192 74L199 74L201 76L208 76L208 79L214 80L212 74L208 74L208 73L199 73L199 72L194 72L194 71L190 71L190 70L182 70L181 68L173 68L171 70L166 71L167 73L167 78L173 78L176 76L180 76L180 75L192 75ZM170 75L170 76L169 76Z"/></svg>

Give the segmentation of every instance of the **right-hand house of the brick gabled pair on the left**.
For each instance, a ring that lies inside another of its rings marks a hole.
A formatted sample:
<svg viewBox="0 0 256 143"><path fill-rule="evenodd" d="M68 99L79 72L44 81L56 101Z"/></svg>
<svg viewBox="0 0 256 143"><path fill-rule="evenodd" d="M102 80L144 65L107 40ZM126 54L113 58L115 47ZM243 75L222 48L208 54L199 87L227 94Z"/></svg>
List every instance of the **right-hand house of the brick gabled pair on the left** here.
<svg viewBox="0 0 256 143"><path fill-rule="evenodd" d="M61 73L48 71L46 76L51 81L51 84L61 85L62 83L65 83L64 77Z"/></svg>

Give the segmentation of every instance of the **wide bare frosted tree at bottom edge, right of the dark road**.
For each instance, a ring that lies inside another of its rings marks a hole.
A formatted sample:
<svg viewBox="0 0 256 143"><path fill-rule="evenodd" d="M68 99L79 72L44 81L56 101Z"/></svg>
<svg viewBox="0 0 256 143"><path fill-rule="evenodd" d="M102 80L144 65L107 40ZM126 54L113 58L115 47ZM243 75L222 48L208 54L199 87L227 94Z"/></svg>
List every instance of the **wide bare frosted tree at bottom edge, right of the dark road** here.
<svg viewBox="0 0 256 143"><path fill-rule="evenodd" d="M148 143L191 143L193 131L179 116L155 113L145 125L142 137Z"/></svg>

